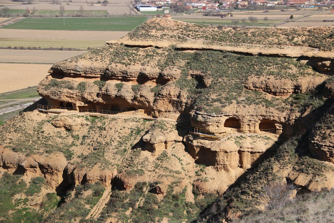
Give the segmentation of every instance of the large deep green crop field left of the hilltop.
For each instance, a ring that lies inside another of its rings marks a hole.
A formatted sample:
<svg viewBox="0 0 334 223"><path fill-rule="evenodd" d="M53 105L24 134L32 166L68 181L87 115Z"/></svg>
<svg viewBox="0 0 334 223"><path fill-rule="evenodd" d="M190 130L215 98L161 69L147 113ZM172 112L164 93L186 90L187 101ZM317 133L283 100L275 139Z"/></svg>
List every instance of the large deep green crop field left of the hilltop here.
<svg viewBox="0 0 334 223"><path fill-rule="evenodd" d="M26 18L3 29L131 31L147 17ZM37 34L37 33L36 33Z"/></svg>

